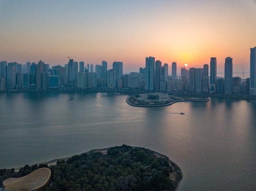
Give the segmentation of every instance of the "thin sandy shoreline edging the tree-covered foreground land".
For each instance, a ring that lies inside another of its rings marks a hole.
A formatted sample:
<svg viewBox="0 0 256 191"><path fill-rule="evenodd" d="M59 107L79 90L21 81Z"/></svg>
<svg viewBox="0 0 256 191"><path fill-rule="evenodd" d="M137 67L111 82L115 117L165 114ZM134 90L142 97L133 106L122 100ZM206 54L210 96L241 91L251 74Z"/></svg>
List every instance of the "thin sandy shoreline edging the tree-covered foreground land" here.
<svg viewBox="0 0 256 191"><path fill-rule="evenodd" d="M90 151L83 152L83 153L80 153L80 154L77 154L77 155L81 155L81 154L84 154L84 153L93 153L93 152L101 152L102 154L107 154L107 151L108 151L109 148L111 148L111 147L101 148L101 149L92 149ZM150 150L150 151L152 151L152 150ZM173 169L173 172L170 173L169 178L171 180L173 180L173 190L176 190L179 187L179 184L180 184L180 182L182 180L182 177L183 177L182 170L180 169L180 167L175 162L173 162L166 155L161 154L161 153L156 152L156 151L152 151L152 152L153 152L154 156L162 157L162 158L166 159L169 162L169 165ZM46 161L46 162L39 162L39 163L36 163L36 164L37 165L39 165L39 164L47 164L50 167L52 165L57 165L57 161L58 160L67 160L68 158L71 158L71 157L72 156L67 156L67 157L64 157L64 158L53 159L53 160L49 160L49 161ZM16 168L14 168L14 170L15 171L19 171L20 168L22 168L22 167L16 167Z"/></svg>

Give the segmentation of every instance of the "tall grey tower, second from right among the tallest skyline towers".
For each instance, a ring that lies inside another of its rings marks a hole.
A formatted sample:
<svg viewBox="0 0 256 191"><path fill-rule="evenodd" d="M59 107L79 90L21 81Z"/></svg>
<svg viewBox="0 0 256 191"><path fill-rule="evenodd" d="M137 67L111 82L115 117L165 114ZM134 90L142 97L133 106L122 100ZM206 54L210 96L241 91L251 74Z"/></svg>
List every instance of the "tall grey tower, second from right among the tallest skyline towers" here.
<svg viewBox="0 0 256 191"><path fill-rule="evenodd" d="M232 94L232 78L233 78L233 63L232 58L225 58L225 78L224 78L224 92L225 94Z"/></svg>

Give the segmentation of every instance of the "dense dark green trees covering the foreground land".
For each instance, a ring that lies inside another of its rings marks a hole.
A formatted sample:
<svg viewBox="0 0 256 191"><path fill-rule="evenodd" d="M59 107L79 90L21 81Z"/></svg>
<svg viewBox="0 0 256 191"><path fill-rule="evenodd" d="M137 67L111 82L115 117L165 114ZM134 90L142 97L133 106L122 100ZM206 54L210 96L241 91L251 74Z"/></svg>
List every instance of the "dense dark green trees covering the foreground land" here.
<svg viewBox="0 0 256 191"><path fill-rule="evenodd" d="M14 169L2 169L1 182L8 177L24 176L39 167L26 165L18 173ZM49 191L173 189L173 181L169 178L173 169L168 160L141 147L122 145L109 148L107 154L75 155L58 160L57 165L49 168L52 171Z"/></svg>

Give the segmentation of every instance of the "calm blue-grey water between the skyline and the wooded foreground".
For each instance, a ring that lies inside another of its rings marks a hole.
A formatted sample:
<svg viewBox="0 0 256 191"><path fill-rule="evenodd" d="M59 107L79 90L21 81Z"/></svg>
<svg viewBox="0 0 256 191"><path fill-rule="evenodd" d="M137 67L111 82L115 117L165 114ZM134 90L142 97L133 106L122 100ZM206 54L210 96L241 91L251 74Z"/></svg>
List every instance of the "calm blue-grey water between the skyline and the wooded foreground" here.
<svg viewBox="0 0 256 191"><path fill-rule="evenodd" d="M177 163L183 172L181 191L255 190L255 100L210 98L137 108L126 103L128 96L0 94L0 168L126 144Z"/></svg>

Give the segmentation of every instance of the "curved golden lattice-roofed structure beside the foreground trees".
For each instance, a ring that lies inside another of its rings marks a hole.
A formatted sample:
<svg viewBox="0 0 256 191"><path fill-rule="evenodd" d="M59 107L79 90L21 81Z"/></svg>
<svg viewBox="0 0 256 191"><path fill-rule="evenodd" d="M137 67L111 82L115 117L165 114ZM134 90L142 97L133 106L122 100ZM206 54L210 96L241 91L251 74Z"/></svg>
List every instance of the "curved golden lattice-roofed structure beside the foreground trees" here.
<svg viewBox="0 0 256 191"><path fill-rule="evenodd" d="M40 168L20 178L7 178L4 180L4 189L8 191L41 191L49 185L51 170Z"/></svg>

